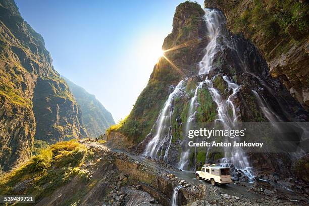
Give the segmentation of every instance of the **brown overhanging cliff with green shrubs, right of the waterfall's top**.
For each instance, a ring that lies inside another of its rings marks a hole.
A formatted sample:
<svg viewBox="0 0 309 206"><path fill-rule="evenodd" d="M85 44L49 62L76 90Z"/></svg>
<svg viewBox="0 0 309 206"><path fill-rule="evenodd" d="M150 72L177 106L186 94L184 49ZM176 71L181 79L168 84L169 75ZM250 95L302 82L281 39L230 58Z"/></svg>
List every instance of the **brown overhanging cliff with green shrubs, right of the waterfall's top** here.
<svg viewBox="0 0 309 206"><path fill-rule="evenodd" d="M205 1L227 17L261 51L272 77L279 79L304 109L309 106L309 5L306 1Z"/></svg>

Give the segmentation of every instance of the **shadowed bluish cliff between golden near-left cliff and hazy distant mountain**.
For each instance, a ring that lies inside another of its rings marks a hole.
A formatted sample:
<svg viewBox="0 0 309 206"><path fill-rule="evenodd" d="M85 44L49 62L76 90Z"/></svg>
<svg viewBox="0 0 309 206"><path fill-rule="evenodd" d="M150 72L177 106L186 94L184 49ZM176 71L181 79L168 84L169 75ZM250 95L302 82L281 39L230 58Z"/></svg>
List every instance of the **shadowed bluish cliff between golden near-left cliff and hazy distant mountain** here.
<svg viewBox="0 0 309 206"><path fill-rule="evenodd" d="M54 143L86 136L79 106L59 74L38 78L32 101L35 139Z"/></svg>

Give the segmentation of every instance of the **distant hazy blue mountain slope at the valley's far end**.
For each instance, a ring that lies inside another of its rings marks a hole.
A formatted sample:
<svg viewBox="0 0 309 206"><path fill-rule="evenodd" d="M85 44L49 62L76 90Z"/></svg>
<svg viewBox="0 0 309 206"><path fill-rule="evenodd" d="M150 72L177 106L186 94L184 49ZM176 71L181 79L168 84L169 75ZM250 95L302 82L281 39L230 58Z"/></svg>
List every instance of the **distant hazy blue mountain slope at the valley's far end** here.
<svg viewBox="0 0 309 206"><path fill-rule="evenodd" d="M89 136L98 137L104 134L111 125L115 124L112 114L105 109L93 94L89 94L84 88L74 84L67 78L64 79L82 110L81 119Z"/></svg>

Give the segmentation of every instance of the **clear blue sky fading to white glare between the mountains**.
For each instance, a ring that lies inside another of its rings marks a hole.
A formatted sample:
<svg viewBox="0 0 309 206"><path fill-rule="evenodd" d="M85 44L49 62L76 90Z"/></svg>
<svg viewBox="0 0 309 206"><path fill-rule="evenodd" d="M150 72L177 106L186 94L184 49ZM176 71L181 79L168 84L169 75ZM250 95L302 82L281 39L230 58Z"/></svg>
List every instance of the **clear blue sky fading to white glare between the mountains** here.
<svg viewBox="0 0 309 206"><path fill-rule="evenodd" d="M184 2L15 1L43 36L55 69L94 94L116 122L146 86L176 6Z"/></svg>

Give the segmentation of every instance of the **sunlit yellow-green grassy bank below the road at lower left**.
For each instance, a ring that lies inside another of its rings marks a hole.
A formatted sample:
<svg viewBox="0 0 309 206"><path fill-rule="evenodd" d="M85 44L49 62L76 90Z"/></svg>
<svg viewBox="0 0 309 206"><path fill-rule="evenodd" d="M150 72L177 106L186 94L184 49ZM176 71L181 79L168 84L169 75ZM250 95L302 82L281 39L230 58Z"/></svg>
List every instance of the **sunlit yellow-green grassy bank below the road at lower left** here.
<svg viewBox="0 0 309 206"><path fill-rule="evenodd" d="M14 195L17 184L26 184L23 194L33 194L35 199L40 199L73 177L86 182L88 172L80 167L86 156L87 148L75 140L43 148L39 155L0 178L0 194Z"/></svg>

